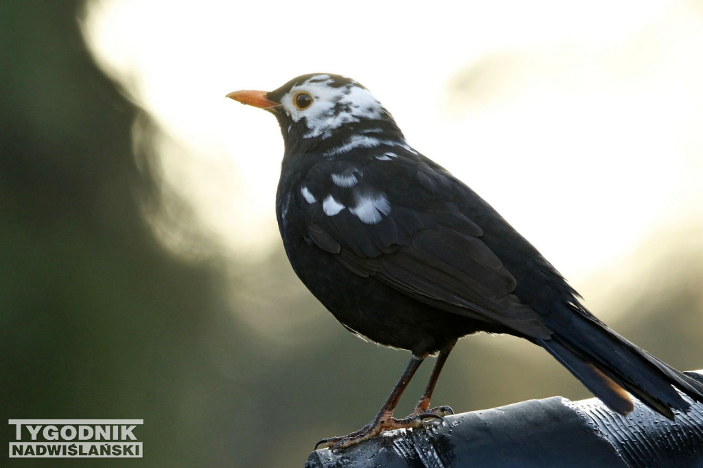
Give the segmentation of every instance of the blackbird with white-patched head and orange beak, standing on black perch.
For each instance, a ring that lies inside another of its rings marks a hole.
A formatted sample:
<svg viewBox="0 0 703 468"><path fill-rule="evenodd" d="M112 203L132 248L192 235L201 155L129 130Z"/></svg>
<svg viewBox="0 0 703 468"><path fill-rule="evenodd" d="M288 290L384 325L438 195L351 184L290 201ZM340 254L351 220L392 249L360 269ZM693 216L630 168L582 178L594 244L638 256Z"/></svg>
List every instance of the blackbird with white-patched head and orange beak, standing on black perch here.
<svg viewBox="0 0 703 468"><path fill-rule="evenodd" d="M671 420L690 408L679 391L703 401L703 384L588 311L491 205L413 149L359 82L313 73L226 96L271 112L280 126L276 219L299 279L350 332L411 351L373 420L316 448L342 450L451 415L449 406L430 408L432 392L457 340L477 332L541 346L620 415L633 410L631 395ZM394 417L427 356L437 360L423 396L410 415Z"/></svg>

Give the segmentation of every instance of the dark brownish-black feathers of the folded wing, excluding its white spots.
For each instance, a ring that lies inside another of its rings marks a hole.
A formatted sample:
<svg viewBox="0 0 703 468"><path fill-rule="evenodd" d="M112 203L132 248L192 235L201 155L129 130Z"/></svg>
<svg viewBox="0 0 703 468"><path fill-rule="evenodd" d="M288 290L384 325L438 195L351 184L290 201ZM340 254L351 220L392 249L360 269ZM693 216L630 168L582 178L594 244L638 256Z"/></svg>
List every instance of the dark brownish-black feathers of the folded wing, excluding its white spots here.
<svg viewBox="0 0 703 468"><path fill-rule="evenodd" d="M425 304L531 337L550 337L534 309L512 294L516 280L482 241L482 228L447 196L442 184L453 179L433 174L432 190L422 188L427 186L427 175L419 190L417 183L394 182L392 186L406 193L385 192L390 211L378 223L364 222L346 208L328 216L320 202L302 203L309 239L349 271L373 276ZM384 182L365 179L349 188L330 185L316 194L316 200L323 200L328 190L336 200L349 203L353 190L389 186ZM413 200L413 207L404 200Z"/></svg>

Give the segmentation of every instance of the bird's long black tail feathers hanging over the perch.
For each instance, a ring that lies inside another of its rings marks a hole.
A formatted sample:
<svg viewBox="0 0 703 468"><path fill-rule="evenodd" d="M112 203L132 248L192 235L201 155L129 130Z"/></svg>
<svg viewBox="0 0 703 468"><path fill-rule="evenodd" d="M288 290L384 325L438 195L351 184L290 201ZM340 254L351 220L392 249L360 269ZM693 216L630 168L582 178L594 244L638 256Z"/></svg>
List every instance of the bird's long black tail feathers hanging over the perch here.
<svg viewBox="0 0 703 468"><path fill-rule="evenodd" d="M608 408L621 415L630 412L633 405L628 391L673 420L673 409L685 411L689 407L676 389L703 402L703 384L628 342L584 309L574 312L550 317L548 320L559 320L550 328L560 331L550 339L534 341Z"/></svg>

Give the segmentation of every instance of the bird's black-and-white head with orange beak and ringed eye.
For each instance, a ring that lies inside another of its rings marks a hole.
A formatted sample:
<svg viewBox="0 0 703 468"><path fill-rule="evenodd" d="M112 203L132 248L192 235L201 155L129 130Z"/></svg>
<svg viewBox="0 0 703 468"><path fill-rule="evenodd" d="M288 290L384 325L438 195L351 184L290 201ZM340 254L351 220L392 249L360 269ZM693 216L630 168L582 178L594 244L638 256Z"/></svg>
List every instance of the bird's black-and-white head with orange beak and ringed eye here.
<svg viewBox="0 0 703 468"><path fill-rule="evenodd" d="M325 152L350 141L404 141L393 117L373 95L348 77L314 73L274 91L234 91L228 98L276 115L286 152Z"/></svg>

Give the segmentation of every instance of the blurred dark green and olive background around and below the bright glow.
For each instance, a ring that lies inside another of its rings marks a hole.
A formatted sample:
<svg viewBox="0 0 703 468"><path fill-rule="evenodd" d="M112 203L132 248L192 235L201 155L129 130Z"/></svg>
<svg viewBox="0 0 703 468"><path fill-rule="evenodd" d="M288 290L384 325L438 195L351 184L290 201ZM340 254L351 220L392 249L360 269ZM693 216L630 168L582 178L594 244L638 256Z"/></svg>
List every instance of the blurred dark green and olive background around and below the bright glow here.
<svg viewBox="0 0 703 468"><path fill-rule="evenodd" d="M237 261L188 229L192 207L139 144L162 129L93 62L83 12L82 1L0 4L1 413L143 419L144 458L103 460L110 466L302 466L318 439L375 415L408 353L346 332L280 245ZM190 255L145 221L160 210ZM633 247L626 271L576 285L612 327L682 370L703 368L701 226L665 226ZM428 364L399 412L420 395ZM543 351L472 337L434 403L463 412L553 395L589 397ZM51 466L60 462L100 461Z"/></svg>

